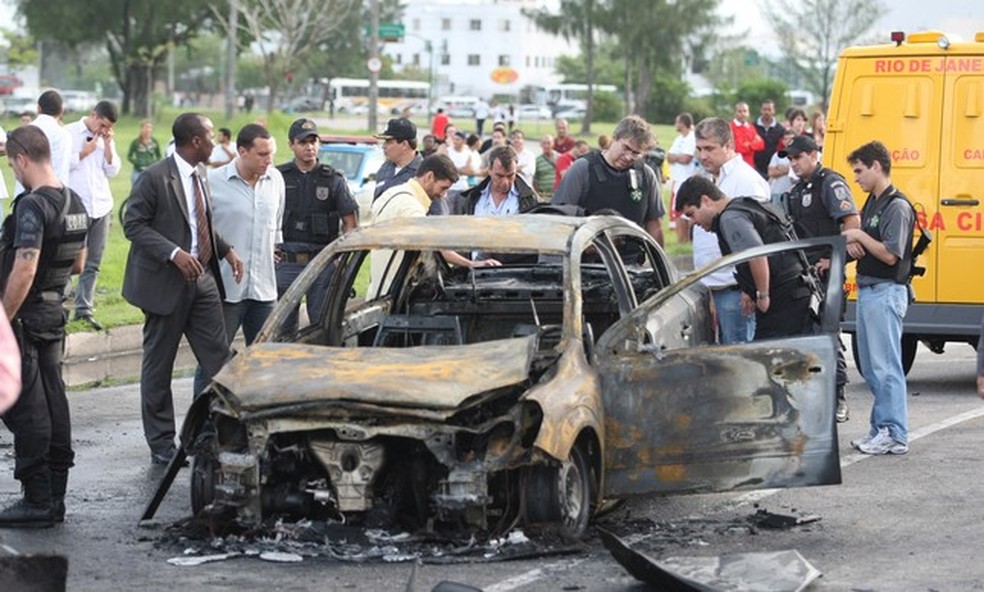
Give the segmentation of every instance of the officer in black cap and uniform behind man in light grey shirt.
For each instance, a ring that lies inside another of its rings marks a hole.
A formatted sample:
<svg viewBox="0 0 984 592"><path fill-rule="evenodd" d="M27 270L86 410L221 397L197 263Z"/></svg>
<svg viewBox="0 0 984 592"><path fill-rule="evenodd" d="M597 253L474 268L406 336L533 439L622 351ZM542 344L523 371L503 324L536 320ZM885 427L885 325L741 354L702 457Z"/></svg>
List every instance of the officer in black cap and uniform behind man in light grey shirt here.
<svg viewBox="0 0 984 592"><path fill-rule="evenodd" d="M284 177L283 240L277 249L277 294L282 297L298 274L321 249L358 224L359 206L349 191L345 176L318 161L318 126L298 119L288 132L294 160L277 167ZM328 266L307 293L307 313L315 319L321 312L332 267ZM297 322L296 314L288 321Z"/></svg>

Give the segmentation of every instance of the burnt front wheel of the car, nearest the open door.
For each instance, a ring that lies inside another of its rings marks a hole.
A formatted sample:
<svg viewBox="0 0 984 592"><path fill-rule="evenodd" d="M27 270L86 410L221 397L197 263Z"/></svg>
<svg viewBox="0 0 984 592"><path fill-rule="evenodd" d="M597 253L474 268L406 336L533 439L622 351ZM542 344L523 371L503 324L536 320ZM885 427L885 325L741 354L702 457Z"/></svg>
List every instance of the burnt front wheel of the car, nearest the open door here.
<svg viewBox="0 0 984 592"><path fill-rule="evenodd" d="M531 467L526 482L526 521L556 522L568 534L581 536L588 528L594 488L591 465L581 444L555 466Z"/></svg>

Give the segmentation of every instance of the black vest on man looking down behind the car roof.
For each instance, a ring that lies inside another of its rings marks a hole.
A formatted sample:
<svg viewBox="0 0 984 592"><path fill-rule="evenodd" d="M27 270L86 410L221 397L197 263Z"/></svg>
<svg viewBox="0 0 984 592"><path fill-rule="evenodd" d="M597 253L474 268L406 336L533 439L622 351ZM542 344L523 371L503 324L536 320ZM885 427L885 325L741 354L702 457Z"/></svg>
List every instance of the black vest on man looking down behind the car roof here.
<svg viewBox="0 0 984 592"><path fill-rule="evenodd" d="M600 152L589 152L582 158L588 161L588 194L578 205L589 214L606 208L615 209L622 217L642 226L649 207L646 199L649 178L645 165L640 162L629 170L616 171L608 166ZM636 177L634 189L632 171Z"/></svg>

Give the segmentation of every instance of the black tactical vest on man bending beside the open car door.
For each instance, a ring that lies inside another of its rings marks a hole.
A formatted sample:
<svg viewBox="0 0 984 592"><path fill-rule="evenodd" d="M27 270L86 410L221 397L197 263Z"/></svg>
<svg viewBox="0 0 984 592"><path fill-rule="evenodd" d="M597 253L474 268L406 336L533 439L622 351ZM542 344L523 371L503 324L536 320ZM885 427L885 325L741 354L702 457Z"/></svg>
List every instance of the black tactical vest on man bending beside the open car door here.
<svg viewBox="0 0 984 592"><path fill-rule="evenodd" d="M751 198L739 198L732 199L724 209L738 210L746 213L748 219L751 220L752 225L755 227L755 231L762 237L763 244L771 245L773 243L797 239L792 222L772 204L761 203ZM723 233L719 232L719 219L715 219L714 231L717 232L718 245L721 247L721 253L729 255L732 252L731 246L725 242L722 237ZM739 265L737 269L739 285L743 288L755 285L755 280L752 278L751 270L747 263ZM787 251L769 256L769 276L772 278L770 283L773 288L781 286L786 282L803 278L805 273L806 268L803 265L803 260L796 251Z"/></svg>

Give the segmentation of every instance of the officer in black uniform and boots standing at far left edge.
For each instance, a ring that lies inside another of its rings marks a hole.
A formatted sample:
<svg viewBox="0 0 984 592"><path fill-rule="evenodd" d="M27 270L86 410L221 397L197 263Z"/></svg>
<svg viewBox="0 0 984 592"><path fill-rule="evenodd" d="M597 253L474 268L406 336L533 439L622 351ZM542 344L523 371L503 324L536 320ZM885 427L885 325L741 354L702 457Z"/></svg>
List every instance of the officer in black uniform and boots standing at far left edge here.
<svg viewBox="0 0 984 592"><path fill-rule="evenodd" d="M39 528L65 519L68 469L75 453L61 359L66 315L62 289L85 262L88 218L74 191L51 168L51 147L37 127L7 137L7 157L28 188L4 221L0 285L21 349L22 390L3 416L14 434L14 477L24 497L0 511L0 527Z"/></svg>

